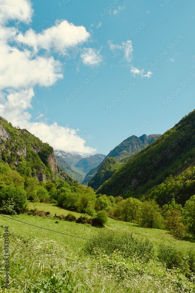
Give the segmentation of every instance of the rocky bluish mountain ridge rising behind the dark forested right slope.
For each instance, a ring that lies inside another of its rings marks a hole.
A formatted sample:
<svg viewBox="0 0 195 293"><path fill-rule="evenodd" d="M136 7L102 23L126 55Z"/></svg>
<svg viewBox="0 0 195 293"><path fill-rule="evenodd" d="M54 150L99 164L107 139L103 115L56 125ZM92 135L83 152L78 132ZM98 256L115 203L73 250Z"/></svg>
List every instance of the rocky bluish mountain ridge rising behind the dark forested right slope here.
<svg viewBox="0 0 195 293"><path fill-rule="evenodd" d="M124 159L124 158L126 158L128 156L131 156L131 155L135 154L137 151L140 151L140 150L144 149L151 142L154 142L160 136L161 136L161 134L150 134L148 136L146 134L143 134L140 137L137 137L136 135L132 135L132 136L128 137L123 142L121 142L119 145L117 145L114 149L112 149L110 151L110 153L107 154L105 159L98 166L95 166L92 170L90 170L87 173L87 175L85 176L85 179L83 180L82 184L86 184L87 182L89 182L89 186L91 186L92 188L93 188L93 186L97 187L99 183L96 182L96 179L95 179L95 185L93 185L93 184L90 185L92 183L92 181L90 181L90 180L93 178L93 176L95 176L96 172L101 167L101 164L103 162L105 162L105 160L107 158L112 157L112 158L115 158L118 161L120 161L120 160L122 160L122 159ZM109 165L109 166L111 168L111 165ZM99 178L99 176L98 176L98 178ZM107 178L107 175L105 175L105 178ZM94 180L93 180L93 182L94 182ZM102 180L100 180L100 183L102 184Z"/></svg>

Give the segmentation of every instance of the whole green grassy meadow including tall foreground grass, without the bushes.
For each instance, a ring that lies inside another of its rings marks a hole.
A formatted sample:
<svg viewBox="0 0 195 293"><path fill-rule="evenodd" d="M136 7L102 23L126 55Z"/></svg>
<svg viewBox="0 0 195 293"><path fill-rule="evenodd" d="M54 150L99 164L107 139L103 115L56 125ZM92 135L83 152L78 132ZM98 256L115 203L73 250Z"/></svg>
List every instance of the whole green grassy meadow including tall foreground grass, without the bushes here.
<svg viewBox="0 0 195 293"><path fill-rule="evenodd" d="M33 204L29 203L33 208ZM50 214L68 214L69 211L52 204L37 204L37 209ZM73 213L77 218L81 215ZM7 293L178 293L195 292L193 275L190 281L182 268L167 270L156 255L145 261L113 251L111 255L94 251L83 254L86 241L40 229L20 220L54 231L92 238L98 231L133 233L134 237L148 237L154 247L160 244L178 248L195 247L194 239L178 239L170 232L148 229L132 223L109 219L105 227L77 224L56 218L27 214L0 215L0 292L4 284L4 227L11 233L10 287ZM15 220L14 220L15 219ZM59 223L55 223L58 221ZM107 234L107 233L106 233ZM22 237L20 237L22 236ZM112 251L112 250L111 250ZM167 257L167 254L166 254ZM185 269L185 261L184 261ZM2 291L3 292L3 291Z"/></svg>

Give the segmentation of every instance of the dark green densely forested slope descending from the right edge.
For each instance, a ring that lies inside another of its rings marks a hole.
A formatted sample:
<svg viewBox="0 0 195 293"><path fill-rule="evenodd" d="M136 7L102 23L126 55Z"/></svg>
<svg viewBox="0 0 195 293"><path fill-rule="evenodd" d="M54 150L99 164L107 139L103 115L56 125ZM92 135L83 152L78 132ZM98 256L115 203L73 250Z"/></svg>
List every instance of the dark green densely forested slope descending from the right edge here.
<svg viewBox="0 0 195 293"><path fill-rule="evenodd" d="M195 110L119 168L97 193L141 197L166 177L194 166L194 159Z"/></svg>

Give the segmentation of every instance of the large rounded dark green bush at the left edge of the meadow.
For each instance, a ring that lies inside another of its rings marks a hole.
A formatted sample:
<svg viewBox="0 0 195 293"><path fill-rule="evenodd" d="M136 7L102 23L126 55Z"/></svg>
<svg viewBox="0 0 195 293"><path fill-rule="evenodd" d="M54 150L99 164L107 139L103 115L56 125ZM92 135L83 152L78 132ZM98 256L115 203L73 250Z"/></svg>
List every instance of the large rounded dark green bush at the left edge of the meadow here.
<svg viewBox="0 0 195 293"><path fill-rule="evenodd" d="M3 201L11 201L11 208L17 213L23 212L27 206L26 192L21 187L5 186L0 190L0 208L5 206ZM7 202L6 202L7 204Z"/></svg>

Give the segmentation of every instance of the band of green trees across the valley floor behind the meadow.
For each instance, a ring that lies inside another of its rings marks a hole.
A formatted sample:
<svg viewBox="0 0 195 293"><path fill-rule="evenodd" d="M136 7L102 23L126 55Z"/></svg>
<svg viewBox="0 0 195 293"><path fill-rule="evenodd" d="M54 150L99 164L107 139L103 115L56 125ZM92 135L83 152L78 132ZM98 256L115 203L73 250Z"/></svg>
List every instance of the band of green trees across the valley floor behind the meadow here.
<svg viewBox="0 0 195 293"><path fill-rule="evenodd" d="M46 183L39 182L36 177L21 176L16 171L6 169L4 164L0 163L0 167L1 212L25 212L27 200L31 200L35 206L37 202L53 203L69 211L92 217L97 212L105 211L109 217L117 220L150 228L167 229L178 234L195 235L195 195L187 200L184 207L175 202L175 194L179 188L182 190L183 185L191 187L192 181L187 179L194 178L195 167L175 179L172 176L167 178L165 183L151 191L148 200L96 195L91 187L76 182L66 182L62 178L55 178ZM168 195L169 197L166 197ZM160 196L167 198L167 203L162 207L156 202Z"/></svg>

